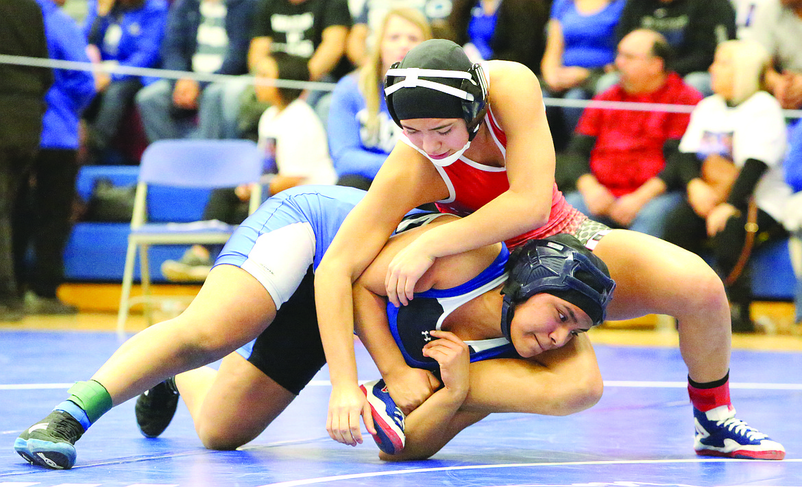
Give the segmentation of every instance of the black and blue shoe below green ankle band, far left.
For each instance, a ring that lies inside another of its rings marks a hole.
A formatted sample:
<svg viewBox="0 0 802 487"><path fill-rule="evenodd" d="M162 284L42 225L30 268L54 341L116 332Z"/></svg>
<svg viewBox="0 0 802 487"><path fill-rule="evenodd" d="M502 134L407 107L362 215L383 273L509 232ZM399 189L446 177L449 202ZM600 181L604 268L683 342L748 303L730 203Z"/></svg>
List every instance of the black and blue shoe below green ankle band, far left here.
<svg viewBox="0 0 802 487"><path fill-rule="evenodd" d="M70 469L75 465L75 441L83 426L63 411L53 411L26 429L14 441L14 450L26 461L49 469Z"/></svg>

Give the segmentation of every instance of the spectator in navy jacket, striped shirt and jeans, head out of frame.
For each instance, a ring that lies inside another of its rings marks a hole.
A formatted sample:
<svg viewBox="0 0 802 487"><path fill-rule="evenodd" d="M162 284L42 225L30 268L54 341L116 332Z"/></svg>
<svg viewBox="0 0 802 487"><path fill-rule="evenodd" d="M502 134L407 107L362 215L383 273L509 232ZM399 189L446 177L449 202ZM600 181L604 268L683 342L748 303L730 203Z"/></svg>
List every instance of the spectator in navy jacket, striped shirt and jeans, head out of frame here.
<svg viewBox="0 0 802 487"><path fill-rule="evenodd" d="M161 46L162 67L196 73L247 74L256 0L176 0ZM237 83L161 79L136 95L148 141L233 139ZM194 131L194 134L193 134Z"/></svg>

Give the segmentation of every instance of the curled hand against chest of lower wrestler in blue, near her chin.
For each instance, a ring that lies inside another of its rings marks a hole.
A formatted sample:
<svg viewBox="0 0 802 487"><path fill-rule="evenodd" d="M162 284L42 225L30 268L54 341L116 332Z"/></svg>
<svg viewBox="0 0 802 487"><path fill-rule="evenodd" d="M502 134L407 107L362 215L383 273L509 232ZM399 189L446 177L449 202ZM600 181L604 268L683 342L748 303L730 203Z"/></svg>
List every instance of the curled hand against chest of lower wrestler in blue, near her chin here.
<svg viewBox="0 0 802 487"><path fill-rule="evenodd" d="M432 330L429 334L438 340L423 345L423 356L437 360L444 388L464 400L470 384L468 366L471 354L468 345L452 332Z"/></svg>

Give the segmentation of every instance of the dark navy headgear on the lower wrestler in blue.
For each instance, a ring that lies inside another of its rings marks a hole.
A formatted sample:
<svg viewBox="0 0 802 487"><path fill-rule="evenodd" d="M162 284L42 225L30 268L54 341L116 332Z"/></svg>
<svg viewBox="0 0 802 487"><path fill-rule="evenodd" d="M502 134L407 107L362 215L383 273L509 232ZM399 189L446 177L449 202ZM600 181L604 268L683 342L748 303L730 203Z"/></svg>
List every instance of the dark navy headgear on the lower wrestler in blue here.
<svg viewBox="0 0 802 487"><path fill-rule="evenodd" d="M595 326L604 321L615 289L606 264L567 233L529 240L516 248L507 261L507 272L501 290L501 332L510 342L515 306L531 296L547 292L575 304Z"/></svg>

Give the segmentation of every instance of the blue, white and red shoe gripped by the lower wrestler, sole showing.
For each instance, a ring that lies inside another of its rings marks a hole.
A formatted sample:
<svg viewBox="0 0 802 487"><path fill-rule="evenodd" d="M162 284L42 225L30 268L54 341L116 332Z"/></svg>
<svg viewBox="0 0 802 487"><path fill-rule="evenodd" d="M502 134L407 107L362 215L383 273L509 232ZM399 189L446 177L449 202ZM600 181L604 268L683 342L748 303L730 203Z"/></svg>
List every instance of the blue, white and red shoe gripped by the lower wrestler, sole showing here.
<svg viewBox="0 0 802 487"><path fill-rule="evenodd" d="M359 386L371 404L371 416L376 434L373 439L379 449L388 455L395 455L403 450L407 437L403 433L404 414L387 392L384 380L371 380Z"/></svg>

